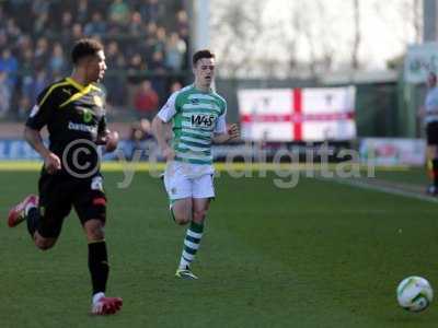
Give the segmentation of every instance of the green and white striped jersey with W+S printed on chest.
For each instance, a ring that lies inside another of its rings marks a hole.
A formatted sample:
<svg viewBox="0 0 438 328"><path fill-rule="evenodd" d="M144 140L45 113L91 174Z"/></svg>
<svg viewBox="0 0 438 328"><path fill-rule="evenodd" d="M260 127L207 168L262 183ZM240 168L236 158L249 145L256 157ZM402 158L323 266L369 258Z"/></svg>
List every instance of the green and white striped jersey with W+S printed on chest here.
<svg viewBox="0 0 438 328"><path fill-rule="evenodd" d="M227 102L216 92L201 92L194 84L173 93L158 117L172 121L175 161L212 164L211 141L224 133Z"/></svg>

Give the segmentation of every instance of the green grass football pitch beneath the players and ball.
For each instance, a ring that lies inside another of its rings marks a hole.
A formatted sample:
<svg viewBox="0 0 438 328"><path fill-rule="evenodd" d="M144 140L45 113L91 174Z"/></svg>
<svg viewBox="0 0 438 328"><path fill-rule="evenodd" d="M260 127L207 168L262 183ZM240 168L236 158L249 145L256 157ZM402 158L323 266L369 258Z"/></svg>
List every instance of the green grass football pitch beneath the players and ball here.
<svg viewBox="0 0 438 328"><path fill-rule="evenodd" d="M0 327L436 327L438 303L400 308L395 288L427 278L438 292L437 204L301 178L278 189L266 178L216 180L194 272L174 277L184 229L168 214L161 181L105 173L110 199L107 294L123 311L90 316L87 243L76 214L55 248L37 250L10 206L36 191L36 172L1 172ZM418 172L384 173L424 183Z"/></svg>

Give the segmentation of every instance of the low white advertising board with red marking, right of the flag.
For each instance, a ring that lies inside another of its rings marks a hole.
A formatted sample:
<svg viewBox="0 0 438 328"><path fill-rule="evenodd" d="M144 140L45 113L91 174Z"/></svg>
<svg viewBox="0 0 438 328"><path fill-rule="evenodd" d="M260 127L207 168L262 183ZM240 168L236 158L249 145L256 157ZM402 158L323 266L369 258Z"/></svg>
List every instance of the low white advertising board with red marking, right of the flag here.
<svg viewBox="0 0 438 328"><path fill-rule="evenodd" d="M426 141L403 138L365 138L360 140L360 161L383 166L424 165Z"/></svg>

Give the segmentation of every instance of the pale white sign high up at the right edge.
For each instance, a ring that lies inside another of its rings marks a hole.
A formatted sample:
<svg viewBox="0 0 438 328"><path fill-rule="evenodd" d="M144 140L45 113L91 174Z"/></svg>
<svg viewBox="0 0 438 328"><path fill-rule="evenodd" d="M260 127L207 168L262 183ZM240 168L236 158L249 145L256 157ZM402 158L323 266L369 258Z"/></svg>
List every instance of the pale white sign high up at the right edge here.
<svg viewBox="0 0 438 328"><path fill-rule="evenodd" d="M438 43L410 46L404 60L404 79L410 83L425 83L429 71L438 72Z"/></svg>

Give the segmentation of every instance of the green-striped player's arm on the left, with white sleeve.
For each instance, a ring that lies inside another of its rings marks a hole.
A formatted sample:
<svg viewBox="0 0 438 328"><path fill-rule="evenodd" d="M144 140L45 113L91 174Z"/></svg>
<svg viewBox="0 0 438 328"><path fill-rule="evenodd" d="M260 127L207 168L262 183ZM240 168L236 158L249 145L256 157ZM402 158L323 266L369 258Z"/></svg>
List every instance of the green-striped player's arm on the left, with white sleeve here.
<svg viewBox="0 0 438 328"><path fill-rule="evenodd" d="M166 161L172 161L175 156L175 152L168 144L168 131L169 122L176 114L176 95L177 93L172 94L172 96L168 99L165 105L160 109L152 120L153 136L155 137L158 145L161 149L161 153Z"/></svg>

